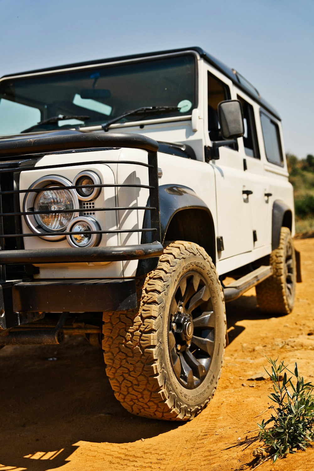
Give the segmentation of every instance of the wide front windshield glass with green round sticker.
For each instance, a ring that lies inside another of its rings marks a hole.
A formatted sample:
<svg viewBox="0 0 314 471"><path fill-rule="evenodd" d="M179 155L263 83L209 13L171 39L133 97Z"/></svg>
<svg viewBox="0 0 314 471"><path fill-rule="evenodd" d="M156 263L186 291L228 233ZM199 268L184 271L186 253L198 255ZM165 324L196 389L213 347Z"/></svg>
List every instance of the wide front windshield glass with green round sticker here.
<svg viewBox="0 0 314 471"><path fill-rule="evenodd" d="M191 114L195 57L182 55L86 67L0 81L0 135L94 126L142 106L174 106L166 114L129 115L121 122ZM83 116L81 116L83 115ZM83 117L42 123L57 116Z"/></svg>

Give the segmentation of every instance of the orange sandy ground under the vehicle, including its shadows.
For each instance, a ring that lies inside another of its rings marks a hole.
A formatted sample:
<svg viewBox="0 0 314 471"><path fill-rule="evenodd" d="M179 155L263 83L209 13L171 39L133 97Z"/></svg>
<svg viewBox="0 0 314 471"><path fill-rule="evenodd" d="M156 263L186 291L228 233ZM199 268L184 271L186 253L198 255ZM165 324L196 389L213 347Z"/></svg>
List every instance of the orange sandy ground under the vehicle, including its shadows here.
<svg viewBox="0 0 314 471"><path fill-rule="evenodd" d="M254 288L227 304L230 344L217 393L182 424L128 414L114 398L100 350L82 338L60 347L0 351L0 471L246 470L257 422L270 417L270 381L247 381L279 357L314 382L314 239L297 240L303 283L289 316L267 318ZM56 358L49 360L48 358ZM244 384L244 386L242 385ZM314 469L314 448L258 470Z"/></svg>

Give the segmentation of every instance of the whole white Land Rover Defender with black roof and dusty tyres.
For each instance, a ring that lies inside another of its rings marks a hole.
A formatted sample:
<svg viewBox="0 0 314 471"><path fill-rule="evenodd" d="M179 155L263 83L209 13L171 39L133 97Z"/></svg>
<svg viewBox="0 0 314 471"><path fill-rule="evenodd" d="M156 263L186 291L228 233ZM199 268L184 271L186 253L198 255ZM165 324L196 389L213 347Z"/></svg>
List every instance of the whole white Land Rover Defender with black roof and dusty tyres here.
<svg viewBox="0 0 314 471"><path fill-rule="evenodd" d="M225 301L293 308L277 112L193 47L2 77L0 133L0 345L85 335L127 410L193 418Z"/></svg>

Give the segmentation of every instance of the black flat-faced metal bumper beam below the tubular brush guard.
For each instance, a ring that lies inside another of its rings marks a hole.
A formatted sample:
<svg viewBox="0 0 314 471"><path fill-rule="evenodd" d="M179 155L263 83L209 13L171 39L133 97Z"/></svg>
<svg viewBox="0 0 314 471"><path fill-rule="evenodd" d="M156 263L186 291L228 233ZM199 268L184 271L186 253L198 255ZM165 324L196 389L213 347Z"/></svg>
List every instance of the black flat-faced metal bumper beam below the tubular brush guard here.
<svg viewBox="0 0 314 471"><path fill-rule="evenodd" d="M0 284L0 330L31 321L32 312L123 311L136 306L135 279L9 281Z"/></svg>

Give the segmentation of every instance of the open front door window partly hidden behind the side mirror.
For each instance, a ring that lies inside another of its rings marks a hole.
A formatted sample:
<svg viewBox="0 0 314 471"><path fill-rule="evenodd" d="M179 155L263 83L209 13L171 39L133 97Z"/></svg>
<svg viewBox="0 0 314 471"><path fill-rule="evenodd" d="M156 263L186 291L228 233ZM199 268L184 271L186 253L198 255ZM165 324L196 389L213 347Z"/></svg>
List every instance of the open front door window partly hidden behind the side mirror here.
<svg viewBox="0 0 314 471"><path fill-rule="evenodd" d="M218 103L230 99L230 90L224 82L220 81L211 73L207 73L208 93L208 131L211 141L221 140L220 125L218 122Z"/></svg>

